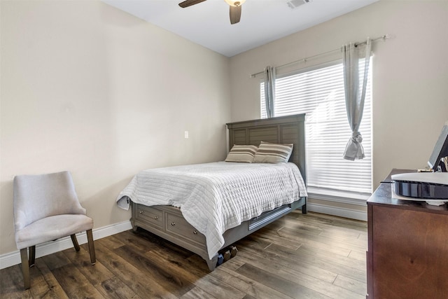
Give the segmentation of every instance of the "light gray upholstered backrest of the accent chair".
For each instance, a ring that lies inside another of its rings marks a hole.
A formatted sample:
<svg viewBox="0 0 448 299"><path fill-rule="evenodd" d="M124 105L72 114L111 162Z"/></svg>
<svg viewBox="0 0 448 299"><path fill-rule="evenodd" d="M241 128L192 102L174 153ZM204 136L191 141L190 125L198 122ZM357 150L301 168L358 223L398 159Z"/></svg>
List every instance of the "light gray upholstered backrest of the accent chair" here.
<svg viewBox="0 0 448 299"><path fill-rule="evenodd" d="M85 215L69 172L15 176L13 184L16 231L48 216Z"/></svg>

